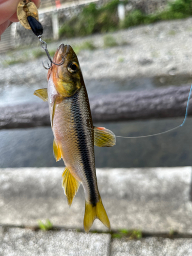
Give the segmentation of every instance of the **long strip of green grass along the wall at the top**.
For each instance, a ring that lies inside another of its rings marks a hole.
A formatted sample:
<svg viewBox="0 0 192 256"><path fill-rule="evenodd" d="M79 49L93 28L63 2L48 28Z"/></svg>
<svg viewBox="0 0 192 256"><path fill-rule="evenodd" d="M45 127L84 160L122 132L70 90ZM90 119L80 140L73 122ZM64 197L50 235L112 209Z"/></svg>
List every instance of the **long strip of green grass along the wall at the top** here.
<svg viewBox="0 0 192 256"><path fill-rule="evenodd" d="M126 3L127 1L121 1ZM91 3L82 9L78 16L68 20L59 30L60 37L85 36L93 33L105 33L120 28L129 28L141 24L150 24L159 20L186 18L192 15L191 0L169 2L164 11L145 14L141 10L133 10L126 14L123 22L119 22L117 6L119 0L97 7Z"/></svg>

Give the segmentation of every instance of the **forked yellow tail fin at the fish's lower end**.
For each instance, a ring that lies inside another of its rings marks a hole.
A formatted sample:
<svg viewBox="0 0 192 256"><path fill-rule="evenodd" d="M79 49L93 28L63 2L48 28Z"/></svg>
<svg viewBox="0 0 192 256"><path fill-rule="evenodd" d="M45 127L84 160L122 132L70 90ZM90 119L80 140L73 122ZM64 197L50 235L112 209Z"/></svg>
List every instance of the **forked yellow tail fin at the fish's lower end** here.
<svg viewBox="0 0 192 256"><path fill-rule="evenodd" d="M111 229L110 221L99 196L99 202L95 206L86 201L86 210L84 211L84 230L89 232L95 219L99 219L106 227Z"/></svg>

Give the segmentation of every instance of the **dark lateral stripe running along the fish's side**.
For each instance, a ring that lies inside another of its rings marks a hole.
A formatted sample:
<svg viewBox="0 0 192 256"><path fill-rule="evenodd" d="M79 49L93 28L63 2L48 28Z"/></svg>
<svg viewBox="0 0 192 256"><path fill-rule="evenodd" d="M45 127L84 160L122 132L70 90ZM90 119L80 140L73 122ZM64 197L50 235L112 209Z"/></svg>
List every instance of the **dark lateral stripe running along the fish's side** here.
<svg viewBox="0 0 192 256"><path fill-rule="evenodd" d="M79 148L82 163L83 163L84 173L86 175L86 178L89 184L90 201L93 204L93 206L96 206L98 199L95 193L95 184L94 184L92 168L91 168L90 159L89 159L86 134L84 132L83 125L82 125L83 120L82 120L82 115L80 111L80 102L79 102L78 96L79 96L78 93L76 93L73 96L74 103L71 106L71 113L75 120L75 132L77 133L78 142L79 142L78 148Z"/></svg>

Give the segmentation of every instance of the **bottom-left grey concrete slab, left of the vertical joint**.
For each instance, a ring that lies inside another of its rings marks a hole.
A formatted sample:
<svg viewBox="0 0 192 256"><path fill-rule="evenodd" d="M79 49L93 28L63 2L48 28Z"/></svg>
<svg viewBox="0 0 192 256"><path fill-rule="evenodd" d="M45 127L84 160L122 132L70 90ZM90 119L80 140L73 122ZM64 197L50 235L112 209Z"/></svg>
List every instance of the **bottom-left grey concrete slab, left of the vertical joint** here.
<svg viewBox="0 0 192 256"><path fill-rule="evenodd" d="M108 256L110 234L86 234L73 231L32 231L10 228L0 240L1 256Z"/></svg>

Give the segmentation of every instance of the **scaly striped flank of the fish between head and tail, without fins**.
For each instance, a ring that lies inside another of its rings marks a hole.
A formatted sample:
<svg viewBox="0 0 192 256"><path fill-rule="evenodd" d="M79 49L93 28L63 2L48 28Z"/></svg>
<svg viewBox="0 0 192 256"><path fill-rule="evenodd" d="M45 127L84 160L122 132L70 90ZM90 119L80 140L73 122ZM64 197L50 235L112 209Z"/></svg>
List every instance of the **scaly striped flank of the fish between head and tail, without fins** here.
<svg viewBox="0 0 192 256"><path fill-rule="evenodd" d="M99 201L99 193L95 174L94 135L91 113L87 109L88 104L84 104L85 91L86 88L82 87L74 96L56 105L52 129L56 141L60 144L61 155L63 152L63 161L82 183L86 200L93 200L95 205ZM70 119L66 119L66 116L70 116ZM71 126L74 129L73 135ZM73 146L72 141L76 141Z"/></svg>

